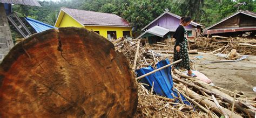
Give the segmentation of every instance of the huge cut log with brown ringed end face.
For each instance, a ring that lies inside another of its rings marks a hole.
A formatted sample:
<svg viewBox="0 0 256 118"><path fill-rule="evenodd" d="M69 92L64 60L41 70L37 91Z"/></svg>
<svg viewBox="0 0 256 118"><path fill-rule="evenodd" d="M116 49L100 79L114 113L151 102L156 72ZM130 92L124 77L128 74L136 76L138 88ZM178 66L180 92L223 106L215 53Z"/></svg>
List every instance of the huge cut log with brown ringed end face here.
<svg viewBox="0 0 256 118"><path fill-rule="evenodd" d="M37 33L0 67L0 117L132 117L138 102L129 61L97 33Z"/></svg>

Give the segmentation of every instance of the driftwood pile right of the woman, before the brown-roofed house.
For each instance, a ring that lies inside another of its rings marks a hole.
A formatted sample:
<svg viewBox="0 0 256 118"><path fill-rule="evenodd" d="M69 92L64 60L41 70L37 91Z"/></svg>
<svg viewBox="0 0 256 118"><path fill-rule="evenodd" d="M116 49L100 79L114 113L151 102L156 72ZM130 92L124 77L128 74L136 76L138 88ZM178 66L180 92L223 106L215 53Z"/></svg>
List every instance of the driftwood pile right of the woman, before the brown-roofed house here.
<svg viewBox="0 0 256 118"><path fill-rule="evenodd" d="M232 49L237 50L240 54L256 55L256 39L255 38L229 38L213 36L212 38L198 37L190 41L190 48L199 51L214 51L228 54Z"/></svg>

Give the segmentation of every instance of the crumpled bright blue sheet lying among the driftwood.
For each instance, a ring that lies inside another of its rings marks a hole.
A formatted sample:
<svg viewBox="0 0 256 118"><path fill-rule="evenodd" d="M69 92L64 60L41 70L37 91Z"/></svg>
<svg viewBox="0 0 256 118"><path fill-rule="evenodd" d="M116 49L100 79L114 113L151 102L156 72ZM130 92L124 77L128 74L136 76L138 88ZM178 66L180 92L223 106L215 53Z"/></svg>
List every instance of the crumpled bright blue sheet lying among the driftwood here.
<svg viewBox="0 0 256 118"><path fill-rule="evenodd" d="M157 64L157 68L163 67L165 65L170 64L169 59L161 60ZM154 71L154 68L144 67L140 68L139 70L136 70L136 73L138 74L138 77L141 75L144 75L146 73ZM156 73L147 75L146 77L140 79L141 82L149 85L146 86L147 89L152 88L153 82L154 87L153 91L161 96L165 96L167 98L173 99L172 93L178 98L178 91L174 89L173 91L173 80L171 76L171 66L164 68L163 70L157 71ZM187 105L190 105L190 102L188 102L183 95L181 95L181 99L184 103Z"/></svg>

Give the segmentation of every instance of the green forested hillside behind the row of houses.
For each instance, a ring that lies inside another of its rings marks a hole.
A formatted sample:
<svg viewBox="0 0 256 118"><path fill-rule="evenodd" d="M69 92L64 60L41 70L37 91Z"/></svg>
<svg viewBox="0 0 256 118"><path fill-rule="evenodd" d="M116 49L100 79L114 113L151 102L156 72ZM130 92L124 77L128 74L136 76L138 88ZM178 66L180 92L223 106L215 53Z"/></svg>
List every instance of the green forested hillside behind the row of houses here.
<svg viewBox="0 0 256 118"><path fill-rule="evenodd" d="M256 12L255 0L70 0L40 2L42 7L14 5L20 16L28 16L54 25L61 7L114 13L137 27L138 31L157 18L164 9L179 16L191 16L204 26L217 23L220 19L237 11L235 4L246 2L239 10Z"/></svg>

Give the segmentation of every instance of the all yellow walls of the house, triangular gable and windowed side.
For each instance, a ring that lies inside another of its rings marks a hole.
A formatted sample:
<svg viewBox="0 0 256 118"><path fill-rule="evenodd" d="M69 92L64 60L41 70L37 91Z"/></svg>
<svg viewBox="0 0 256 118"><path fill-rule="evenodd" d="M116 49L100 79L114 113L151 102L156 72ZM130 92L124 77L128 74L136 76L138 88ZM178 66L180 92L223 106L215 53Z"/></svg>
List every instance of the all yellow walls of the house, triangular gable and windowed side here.
<svg viewBox="0 0 256 118"><path fill-rule="evenodd" d="M63 11L60 11L59 18L57 19L55 27L83 27L80 23L78 23L75 19L70 17ZM105 38L107 38L107 31L116 31L117 38L123 37L123 31L130 31L130 35L132 36L132 27L116 27L116 26L84 26L87 30L99 31L99 34Z"/></svg>

